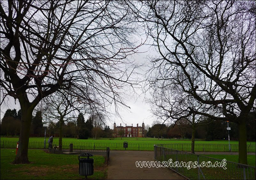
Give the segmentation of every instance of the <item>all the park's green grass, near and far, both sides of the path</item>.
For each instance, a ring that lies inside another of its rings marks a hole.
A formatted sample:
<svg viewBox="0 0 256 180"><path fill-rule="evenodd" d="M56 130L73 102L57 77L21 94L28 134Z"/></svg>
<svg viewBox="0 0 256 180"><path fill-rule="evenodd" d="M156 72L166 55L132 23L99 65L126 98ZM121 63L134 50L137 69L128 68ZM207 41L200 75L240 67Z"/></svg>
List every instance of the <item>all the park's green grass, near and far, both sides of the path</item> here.
<svg viewBox="0 0 256 180"><path fill-rule="evenodd" d="M46 138L46 143L49 137ZM18 137L1 137L1 141L18 141ZM169 140L163 139L158 140L156 138L115 138L115 140L109 140L108 138L101 138L101 139L88 139L88 140L77 140L75 138L63 138L63 143L69 145L69 143L73 143L76 145L76 148L80 148L80 145L87 146L87 149L93 148L95 146L100 145L104 147L104 145L109 146L110 150L124 150L122 143L124 141L128 142L128 149L127 150L148 150L150 147L154 147L154 144L167 144L166 147L172 147L177 150L183 150L186 145L184 144L191 144L191 140ZM32 144L42 144L44 142L44 137L41 138L30 138L29 142ZM54 138L53 144L58 144L58 138ZM203 140L196 140L195 142L198 147L205 148L207 145L204 144L212 144L214 149L221 149L223 145L228 145L227 140L214 140L214 141L203 141ZM16 143L14 143L15 145ZM230 144L238 144L238 141L230 141ZM247 142L247 145L254 145L255 142ZM138 149L138 146L140 149ZM2 147L2 143L1 143ZM47 143L48 147L48 143ZM74 146L75 147L75 146ZM165 145L164 145L165 147ZM227 146L228 147L228 146ZM235 147L235 146L234 146ZM144 148L144 149L143 149ZM159 148L161 149L161 147ZM206 150L206 149L204 149ZM232 149L234 150L234 149ZM169 151L169 152L168 152ZM173 159L173 161L197 161L197 156L191 155L189 153L180 152L181 154L175 155L172 154L173 150L166 149L166 156L160 155L159 161L167 161L168 159ZM188 150L189 151L189 150ZM29 161L32 163L30 164L19 164L13 165L11 162L15 158L15 149L1 149L1 179L84 179L84 176L79 176L78 174L78 155L56 155L56 154L49 154L45 153L43 150L31 150L29 149L28 158ZM161 153L162 151L158 151ZM208 156L208 157L205 157ZM226 159L230 162L238 162L238 155L203 155L200 156L200 161L215 161L214 159ZM98 161L98 162L96 162ZM255 166L255 155L248 155L248 164L251 166ZM98 168L98 169L97 169ZM229 163L228 170L223 168L201 168L203 174L207 179L222 179L225 177L226 179L239 179L243 177L243 169L237 167L234 163ZM174 169L176 170L176 169ZM250 169L251 171L251 169ZM198 169L186 169L180 168L179 172L190 179L197 178ZM106 178L106 167L104 166L104 158L103 157L94 157L94 175L88 176L91 179L103 179ZM200 179L203 178L202 173L200 172ZM255 179L255 176L253 176Z"/></svg>

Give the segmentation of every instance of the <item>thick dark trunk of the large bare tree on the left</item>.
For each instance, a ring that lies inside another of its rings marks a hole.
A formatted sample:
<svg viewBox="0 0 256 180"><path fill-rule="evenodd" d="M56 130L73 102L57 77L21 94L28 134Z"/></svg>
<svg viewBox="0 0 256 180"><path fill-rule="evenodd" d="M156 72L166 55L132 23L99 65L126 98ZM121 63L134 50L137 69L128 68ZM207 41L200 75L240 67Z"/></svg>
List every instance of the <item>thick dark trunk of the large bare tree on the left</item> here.
<svg viewBox="0 0 256 180"><path fill-rule="evenodd" d="M28 141L29 132L32 120L33 108L28 104L21 104L21 128L19 134L19 146L16 158L12 163L14 164L28 164Z"/></svg>

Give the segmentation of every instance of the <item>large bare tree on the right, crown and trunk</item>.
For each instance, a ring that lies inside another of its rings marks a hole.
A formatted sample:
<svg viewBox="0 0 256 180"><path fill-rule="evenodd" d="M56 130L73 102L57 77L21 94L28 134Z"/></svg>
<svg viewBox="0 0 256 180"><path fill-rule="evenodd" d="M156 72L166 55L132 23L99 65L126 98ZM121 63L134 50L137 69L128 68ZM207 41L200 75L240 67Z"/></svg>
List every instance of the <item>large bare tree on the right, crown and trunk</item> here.
<svg viewBox="0 0 256 180"><path fill-rule="evenodd" d="M255 112L256 94L255 1L143 1L139 12L159 52L152 82L168 80L205 104L207 111L190 108L193 114L237 123L238 162L247 164L245 122Z"/></svg>

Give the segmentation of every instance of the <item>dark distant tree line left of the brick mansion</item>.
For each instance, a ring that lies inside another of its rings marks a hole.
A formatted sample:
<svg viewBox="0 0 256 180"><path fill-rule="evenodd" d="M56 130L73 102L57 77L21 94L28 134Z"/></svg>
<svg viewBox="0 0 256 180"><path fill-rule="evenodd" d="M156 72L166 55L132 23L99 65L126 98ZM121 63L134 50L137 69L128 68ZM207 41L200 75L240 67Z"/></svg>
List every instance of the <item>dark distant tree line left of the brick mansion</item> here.
<svg viewBox="0 0 256 180"><path fill-rule="evenodd" d="M102 115L100 115L102 117ZM63 137L88 139L90 138L111 138L113 130L105 126L103 118L93 114L85 121L83 113L79 113L75 121L63 124ZM1 136L19 136L21 126L21 111L8 109L1 119ZM46 135L58 136L60 121L50 122L46 127ZM37 111L32 118L30 127L30 137L43 137L44 127L42 121L42 112Z"/></svg>

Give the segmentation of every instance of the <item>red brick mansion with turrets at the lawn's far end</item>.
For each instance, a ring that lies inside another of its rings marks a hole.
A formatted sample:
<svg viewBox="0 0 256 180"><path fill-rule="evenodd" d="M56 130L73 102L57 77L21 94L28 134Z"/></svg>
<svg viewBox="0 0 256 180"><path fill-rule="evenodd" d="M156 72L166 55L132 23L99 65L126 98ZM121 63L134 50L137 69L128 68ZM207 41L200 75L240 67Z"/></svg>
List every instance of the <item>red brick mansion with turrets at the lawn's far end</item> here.
<svg viewBox="0 0 256 180"><path fill-rule="evenodd" d="M144 122L142 123L142 126L139 126L137 124L136 127L133 126L122 126L120 123L120 126L116 126L116 122L114 123L114 136L115 137L144 137Z"/></svg>

